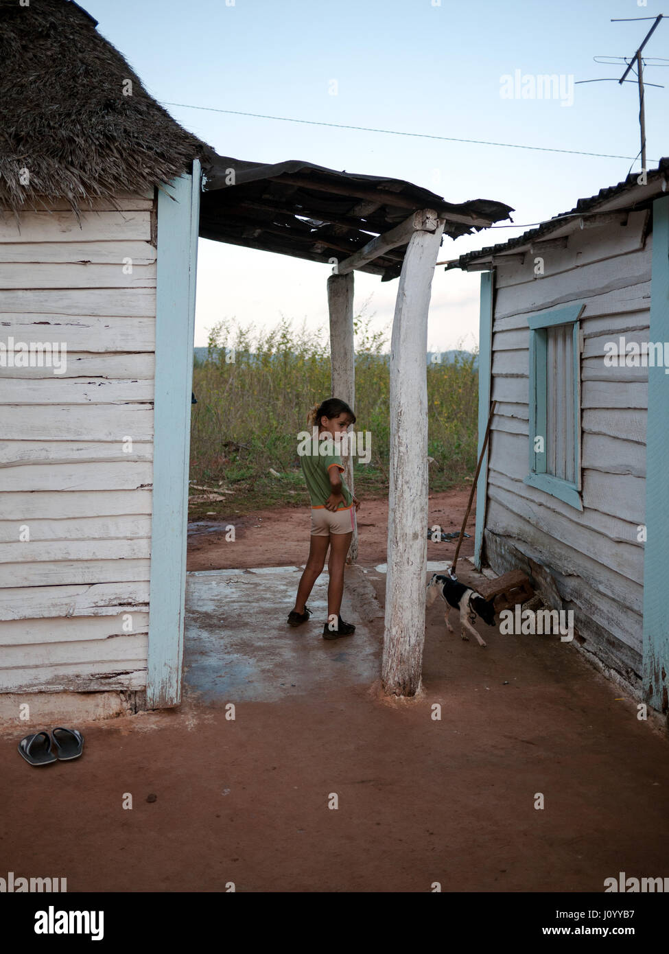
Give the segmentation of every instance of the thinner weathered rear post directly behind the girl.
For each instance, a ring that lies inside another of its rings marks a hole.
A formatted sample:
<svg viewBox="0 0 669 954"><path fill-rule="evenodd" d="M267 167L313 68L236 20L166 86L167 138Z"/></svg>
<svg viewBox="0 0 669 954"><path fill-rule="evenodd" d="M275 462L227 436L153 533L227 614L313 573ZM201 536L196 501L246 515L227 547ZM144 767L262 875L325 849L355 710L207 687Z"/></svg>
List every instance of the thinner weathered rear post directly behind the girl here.
<svg viewBox="0 0 669 954"><path fill-rule="evenodd" d="M353 272L330 275L327 280L327 307L330 314L330 363L332 397L340 398L355 410L355 349L353 346ZM356 425L353 425L355 429ZM353 459L343 454L344 481L351 493ZM358 529L353 530L346 563L358 559Z"/></svg>

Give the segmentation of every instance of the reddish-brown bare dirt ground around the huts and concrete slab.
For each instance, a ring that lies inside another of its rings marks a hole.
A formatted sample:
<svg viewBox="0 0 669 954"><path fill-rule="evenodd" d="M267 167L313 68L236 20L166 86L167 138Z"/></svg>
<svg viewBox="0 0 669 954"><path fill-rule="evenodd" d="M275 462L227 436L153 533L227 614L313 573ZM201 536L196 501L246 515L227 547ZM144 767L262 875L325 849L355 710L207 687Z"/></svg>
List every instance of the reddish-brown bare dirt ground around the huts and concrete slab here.
<svg viewBox="0 0 669 954"><path fill-rule="evenodd" d="M430 525L454 529L465 498L430 500ZM383 605L384 503L364 503L359 526ZM196 533L189 569L299 565L307 548L308 512L264 512L240 520L235 543ZM429 544L430 560L451 552ZM666 734L573 646L484 630L485 650L429 610L425 688L410 701L334 676L326 692L240 702L234 720L187 696L176 711L78 726L84 756L44 769L18 756L25 733L5 728L0 874L67 877L69 892L429 892L438 881L566 893L600 893L620 871L669 875Z"/></svg>

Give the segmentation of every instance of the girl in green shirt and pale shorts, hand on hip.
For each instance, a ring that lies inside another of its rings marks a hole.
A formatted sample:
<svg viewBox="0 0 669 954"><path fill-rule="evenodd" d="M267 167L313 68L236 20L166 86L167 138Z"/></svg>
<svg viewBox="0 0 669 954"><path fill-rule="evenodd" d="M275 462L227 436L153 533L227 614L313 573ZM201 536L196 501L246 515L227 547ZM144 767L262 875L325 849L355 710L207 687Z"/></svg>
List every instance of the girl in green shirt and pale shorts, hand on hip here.
<svg viewBox="0 0 669 954"><path fill-rule="evenodd" d="M314 404L307 415L306 423L311 430L319 428L319 437L329 434L335 440L344 435L346 428L355 424L355 414L345 401L328 398L323 404ZM355 626L345 623L339 614L344 595L344 565L355 528L355 513L360 507L346 487L341 474L345 469L342 456L337 452L325 456L307 453L300 458L306 488L311 500L311 546L304 572L298 587L295 607L288 615L290 626L306 622L311 611L305 605L314 583L323 572L325 554L330 548L327 563L327 622L323 627L324 639L338 639L354 632Z"/></svg>

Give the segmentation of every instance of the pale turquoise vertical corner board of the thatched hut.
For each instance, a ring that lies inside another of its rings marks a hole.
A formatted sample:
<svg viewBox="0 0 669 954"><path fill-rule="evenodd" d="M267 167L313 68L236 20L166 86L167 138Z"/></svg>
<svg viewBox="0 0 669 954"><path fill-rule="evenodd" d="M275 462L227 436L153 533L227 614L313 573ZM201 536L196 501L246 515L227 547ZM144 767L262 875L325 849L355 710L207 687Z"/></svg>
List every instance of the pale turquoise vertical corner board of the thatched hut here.
<svg viewBox="0 0 669 954"><path fill-rule="evenodd" d="M181 701L200 165L158 190L147 707Z"/></svg>

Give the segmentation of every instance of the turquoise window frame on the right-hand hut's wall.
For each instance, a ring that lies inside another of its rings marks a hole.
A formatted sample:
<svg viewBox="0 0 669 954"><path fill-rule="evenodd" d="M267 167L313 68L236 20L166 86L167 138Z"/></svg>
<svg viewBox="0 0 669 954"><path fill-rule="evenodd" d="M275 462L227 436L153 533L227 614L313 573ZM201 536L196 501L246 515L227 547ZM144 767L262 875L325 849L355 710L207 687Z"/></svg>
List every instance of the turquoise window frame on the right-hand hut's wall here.
<svg viewBox="0 0 669 954"><path fill-rule="evenodd" d="M583 509L581 500L581 477L580 477L580 456L581 456L581 428L580 428L580 316L585 308L585 303L567 305L565 308L555 308L553 311L545 312L543 315L533 315L528 319L530 325L530 473L524 478L523 483L530 487L536 487L545 493L550 493L557 497L570 507L577 510ZM557 324L572 325L572 341L574 343L574 473L575 482L563 480L560 477L554 477L553 474L546 473L546 438L547 438L547 333L546 329L554 327ZM537 436L544 438L543 452L534 450L534 438Z"/></svg>

